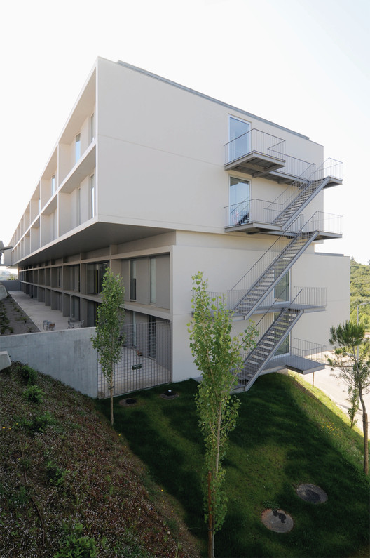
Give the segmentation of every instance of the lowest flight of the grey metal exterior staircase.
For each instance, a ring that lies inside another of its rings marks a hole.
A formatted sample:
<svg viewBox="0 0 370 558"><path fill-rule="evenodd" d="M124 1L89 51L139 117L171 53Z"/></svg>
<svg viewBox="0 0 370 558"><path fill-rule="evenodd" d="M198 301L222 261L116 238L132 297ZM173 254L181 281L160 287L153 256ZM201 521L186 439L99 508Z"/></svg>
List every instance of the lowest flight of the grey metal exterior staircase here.
<svg viewBox="0 0 370 558"><path fill-rule="evenodd" d="M238 374L236 390L247 391L252 387L263 368L266 368L266 364L272 359L302 314L303 310L291 307L280 311L278 317L263 334L256 347L247 355L242 371Z"/></svg>

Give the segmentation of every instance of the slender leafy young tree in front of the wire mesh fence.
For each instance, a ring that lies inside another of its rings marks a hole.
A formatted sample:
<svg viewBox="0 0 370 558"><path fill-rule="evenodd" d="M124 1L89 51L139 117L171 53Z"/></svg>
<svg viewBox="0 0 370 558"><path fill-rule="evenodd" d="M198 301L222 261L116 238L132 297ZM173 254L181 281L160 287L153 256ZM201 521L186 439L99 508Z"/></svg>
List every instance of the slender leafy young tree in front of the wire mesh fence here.
<svg viewBox="0 0 370 558"><path fill-rule="evenodd" d="M91 338L99 354L102 373L111 394L111 424L113 425L114 364L121 359L121 327L124 319L125 288L119 275L108 268L102 282L102 303L97 308L96 336Z"/></svg>

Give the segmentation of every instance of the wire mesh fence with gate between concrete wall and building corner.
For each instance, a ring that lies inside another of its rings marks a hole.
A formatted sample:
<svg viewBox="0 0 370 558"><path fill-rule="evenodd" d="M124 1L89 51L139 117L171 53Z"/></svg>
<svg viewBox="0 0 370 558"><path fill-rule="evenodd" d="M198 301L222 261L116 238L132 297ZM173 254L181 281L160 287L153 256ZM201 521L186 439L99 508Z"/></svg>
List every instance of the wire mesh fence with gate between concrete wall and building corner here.
<svg viewBox="0 0 370 558"><path fill-rule="evenodd" d="M172 381L172 331L170 321L125 324L121 360L114 367L114 395ZM98 362L98 397L109 397L109 384Z"/></svg>

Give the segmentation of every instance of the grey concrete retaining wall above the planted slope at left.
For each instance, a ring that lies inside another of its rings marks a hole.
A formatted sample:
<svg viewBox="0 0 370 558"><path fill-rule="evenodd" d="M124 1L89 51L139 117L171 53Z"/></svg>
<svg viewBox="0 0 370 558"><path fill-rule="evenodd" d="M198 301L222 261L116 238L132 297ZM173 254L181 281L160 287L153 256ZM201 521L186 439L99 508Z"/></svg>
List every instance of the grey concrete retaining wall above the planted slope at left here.
<svg viewBox="0 0 370 558"><path fill-rule="evenodd" d="M94 334L95 328L81 328L1 336L0 351L8 351L12 361L29 364L78 392L97 397Z"/></svg>

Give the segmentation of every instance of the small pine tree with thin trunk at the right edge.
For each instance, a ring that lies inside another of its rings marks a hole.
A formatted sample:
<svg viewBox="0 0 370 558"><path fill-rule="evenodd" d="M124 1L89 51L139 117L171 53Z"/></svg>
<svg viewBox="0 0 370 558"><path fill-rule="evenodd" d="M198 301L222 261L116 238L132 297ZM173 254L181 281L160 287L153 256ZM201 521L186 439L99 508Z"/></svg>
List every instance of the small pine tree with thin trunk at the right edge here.
<svg viewBox="0 0 370 558"><path fill-rule="evenodd" d="M334 357L328 362L336 376L356 391L362 406L362 427L364 431L364 472L369 474L368 422L364 395L370 390L370 345L365 338L365 328L352 321L339 326L331 326L329 343L334 347Z"/></svg>

